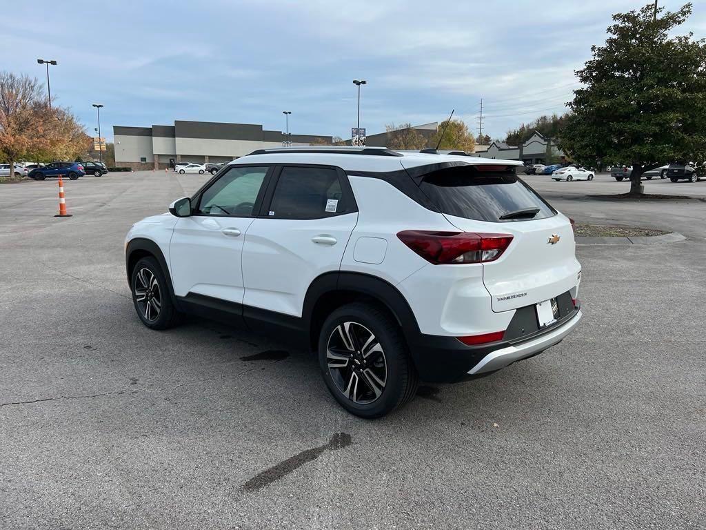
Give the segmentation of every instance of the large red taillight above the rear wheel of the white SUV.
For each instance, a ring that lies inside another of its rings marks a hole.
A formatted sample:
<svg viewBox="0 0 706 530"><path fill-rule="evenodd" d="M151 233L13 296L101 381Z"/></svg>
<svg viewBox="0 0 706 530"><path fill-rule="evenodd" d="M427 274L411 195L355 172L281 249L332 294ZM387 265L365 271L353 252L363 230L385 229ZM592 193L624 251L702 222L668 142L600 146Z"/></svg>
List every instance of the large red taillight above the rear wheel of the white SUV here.
<svg viewBox="0 0 706 530"><path fill-rule="evenodd" d="M476 232L403 230L397 233L407 247L435 265L485 263L501 257L513 236Z"/></svg>

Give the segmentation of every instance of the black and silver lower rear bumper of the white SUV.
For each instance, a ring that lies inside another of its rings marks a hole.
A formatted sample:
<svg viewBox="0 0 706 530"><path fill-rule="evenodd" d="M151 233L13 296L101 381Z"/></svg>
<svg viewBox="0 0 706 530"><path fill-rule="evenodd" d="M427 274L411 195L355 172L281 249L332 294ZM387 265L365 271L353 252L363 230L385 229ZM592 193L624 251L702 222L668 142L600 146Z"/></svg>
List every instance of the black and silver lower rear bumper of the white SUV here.
<svg viewBox="0 0 706 530"><path fill-rule="evenodd" d="M469 375L500 370L561 342L582 318L579 307L548 328L512 341L466 346L450 336L419 334L409 338L409 350L419 378L426 382L450 383Z"/></svg>

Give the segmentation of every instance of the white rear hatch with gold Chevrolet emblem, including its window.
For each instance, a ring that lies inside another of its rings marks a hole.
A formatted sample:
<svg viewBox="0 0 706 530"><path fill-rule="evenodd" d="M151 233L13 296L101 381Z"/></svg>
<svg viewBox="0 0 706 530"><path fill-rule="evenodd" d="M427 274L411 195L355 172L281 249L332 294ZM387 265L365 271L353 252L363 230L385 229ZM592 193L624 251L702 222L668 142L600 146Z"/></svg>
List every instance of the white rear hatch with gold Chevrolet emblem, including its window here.
<svg viewBox="0 0 706 530"><path fill-rule="evenodd" d="M570 221L519 179L516 169L457 166L431 172L419 182L459 230L513 236L498 259L483 264L483 282L496 312L566 293L577 285L580 271Z"/></svg>

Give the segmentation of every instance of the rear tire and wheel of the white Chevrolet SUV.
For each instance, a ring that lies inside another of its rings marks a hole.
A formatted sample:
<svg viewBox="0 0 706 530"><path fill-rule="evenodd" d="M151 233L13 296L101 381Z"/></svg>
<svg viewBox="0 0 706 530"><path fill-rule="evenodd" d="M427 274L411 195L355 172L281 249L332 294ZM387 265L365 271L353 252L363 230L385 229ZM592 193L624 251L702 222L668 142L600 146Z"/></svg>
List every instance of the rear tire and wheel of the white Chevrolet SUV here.
<svg viewBox="0 0 706 530"><path fill-rule="evenodd" d="M372 346L360 348L371 336ZM332 349L337 358L330 356ZM385 416L417 392L419 377L402 330L374 305L356 302L332 312L321 327L318 361L334 399L361 418Z"/></svg>

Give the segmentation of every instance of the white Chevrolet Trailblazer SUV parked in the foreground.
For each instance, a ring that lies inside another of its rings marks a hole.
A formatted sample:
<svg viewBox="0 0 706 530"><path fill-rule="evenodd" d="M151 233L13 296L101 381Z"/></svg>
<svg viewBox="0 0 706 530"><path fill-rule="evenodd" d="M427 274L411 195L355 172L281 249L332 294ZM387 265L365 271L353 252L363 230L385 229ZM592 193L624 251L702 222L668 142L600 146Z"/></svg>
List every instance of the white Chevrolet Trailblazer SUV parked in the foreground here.
<svg viewBox="0 0 706 530"><path fill-rule="evenodd" d="M318 353L348 411L383 416L419 379L486 375L578 324L570 220L520 162L386 148L259 150L133 225L127 276L152 329L180 312Z"/></svg>

